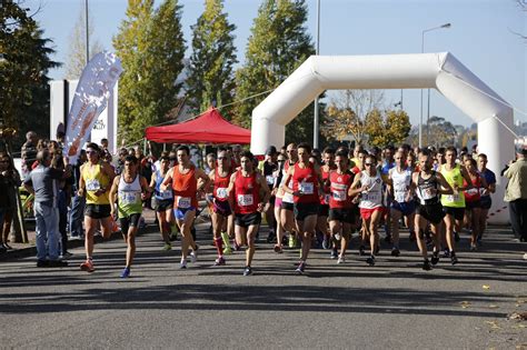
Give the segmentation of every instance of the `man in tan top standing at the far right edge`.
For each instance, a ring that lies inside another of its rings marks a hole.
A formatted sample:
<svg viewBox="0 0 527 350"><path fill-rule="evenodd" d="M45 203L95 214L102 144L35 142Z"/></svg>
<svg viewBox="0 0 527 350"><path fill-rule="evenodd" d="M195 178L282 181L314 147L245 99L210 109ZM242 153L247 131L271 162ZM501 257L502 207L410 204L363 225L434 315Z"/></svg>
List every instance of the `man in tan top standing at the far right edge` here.
<svg viewBox="0 0 527 350"><path fill-rule="evenodd" d="M509 179L505 189L505 201L509 202L510 224L514 234L527 242L527 148L518 146L516 161L510 161L504 176Z"/></svg>

